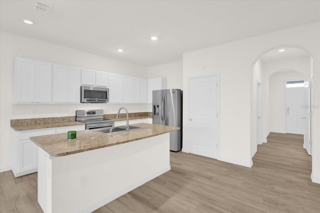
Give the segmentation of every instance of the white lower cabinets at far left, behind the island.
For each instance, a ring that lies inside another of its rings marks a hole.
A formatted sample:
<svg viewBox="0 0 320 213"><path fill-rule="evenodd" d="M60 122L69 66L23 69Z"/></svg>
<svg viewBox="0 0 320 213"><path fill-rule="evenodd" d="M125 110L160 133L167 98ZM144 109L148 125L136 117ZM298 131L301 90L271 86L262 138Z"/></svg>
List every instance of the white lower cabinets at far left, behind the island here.
<svg viewBox="0 0 320 213"><path fill-rule="evenodd" d="M26 131L12 130L12 172L14 176L18 177L37 171L38 146L29 137L84 129L84 125L75 125Z"/></svg>

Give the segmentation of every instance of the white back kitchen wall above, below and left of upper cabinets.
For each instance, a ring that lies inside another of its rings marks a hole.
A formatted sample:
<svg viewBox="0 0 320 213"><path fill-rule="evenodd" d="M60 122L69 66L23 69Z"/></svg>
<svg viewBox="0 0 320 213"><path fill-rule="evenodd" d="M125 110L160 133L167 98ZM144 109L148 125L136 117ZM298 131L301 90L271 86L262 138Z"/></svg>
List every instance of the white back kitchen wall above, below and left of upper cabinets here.
<svg viewBox="0 0 320 213"><path fill-rule="evenodd" d="M122 104L12 104L13 58L21 57L147 78L147 68L28 37L0 31L0 171L11 169L10 119L74 116L77 109L116 113ZM129 112L147 104L124 104ZM35 110L35 114L31 111Z"/></svg>

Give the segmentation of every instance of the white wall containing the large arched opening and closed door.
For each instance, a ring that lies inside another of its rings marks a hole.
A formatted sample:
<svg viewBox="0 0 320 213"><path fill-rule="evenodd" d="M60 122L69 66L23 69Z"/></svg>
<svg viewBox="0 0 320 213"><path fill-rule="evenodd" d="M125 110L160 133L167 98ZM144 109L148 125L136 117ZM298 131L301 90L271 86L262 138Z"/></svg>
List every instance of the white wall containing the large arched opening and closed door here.
<svg viewBox="0 0 320 213"><path fill-rule="evenodd" d="M220 159L250 166L252 67L263 53L278 46L306 49L313 60L313 104L320 97L320 23L270 32L183 54L183 148L188 150L188 78L220 73ZM205 66L201 69L201 66ZM239 112L239 115L233 115ZM319 107L313 109L312 181L320 183ZM254 119L255 120L255 119Z"/></svg>

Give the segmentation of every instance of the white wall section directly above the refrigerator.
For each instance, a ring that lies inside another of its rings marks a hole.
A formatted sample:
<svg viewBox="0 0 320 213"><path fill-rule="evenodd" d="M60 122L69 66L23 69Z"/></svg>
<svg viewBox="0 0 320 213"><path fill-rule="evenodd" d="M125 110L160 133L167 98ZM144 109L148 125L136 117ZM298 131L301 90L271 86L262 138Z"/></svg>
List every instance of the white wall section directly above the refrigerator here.
<svg viewBox="0 0 320 213"><path fill-rule="evenodd" d="M148 78L165 77L167 88L182 89L182 60L148 67Z"/></svg>

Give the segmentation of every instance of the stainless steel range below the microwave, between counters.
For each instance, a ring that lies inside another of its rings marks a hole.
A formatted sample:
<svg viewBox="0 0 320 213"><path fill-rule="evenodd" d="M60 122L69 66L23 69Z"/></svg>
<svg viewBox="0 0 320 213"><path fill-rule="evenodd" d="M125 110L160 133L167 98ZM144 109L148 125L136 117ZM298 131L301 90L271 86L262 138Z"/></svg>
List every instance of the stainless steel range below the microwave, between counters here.
<svg viewBox="0 0 320 213"><path fill-rule="evenodd" d="M76 110L75 119L85 123L85 129L103 128L114 126L112 119L103 118L103 109Z"/></svg>

